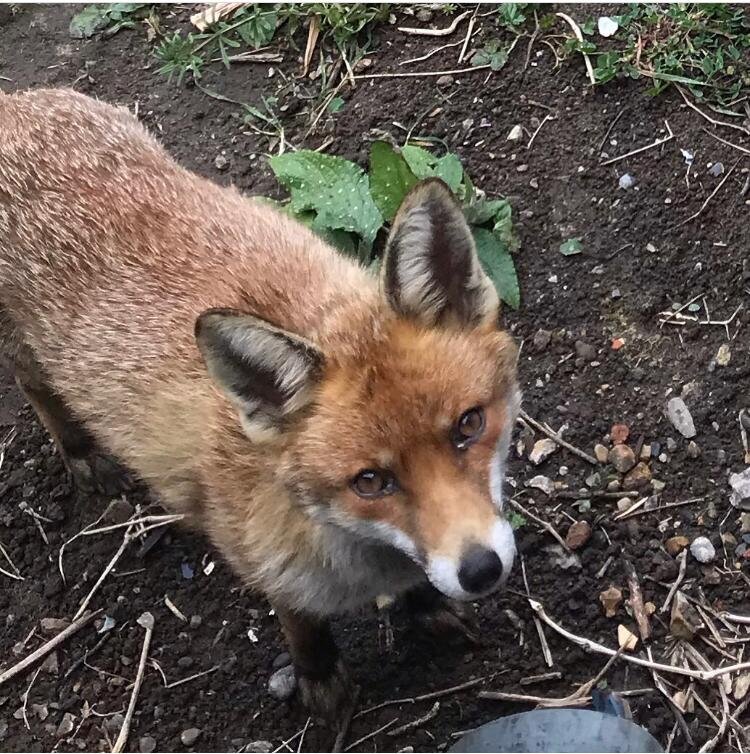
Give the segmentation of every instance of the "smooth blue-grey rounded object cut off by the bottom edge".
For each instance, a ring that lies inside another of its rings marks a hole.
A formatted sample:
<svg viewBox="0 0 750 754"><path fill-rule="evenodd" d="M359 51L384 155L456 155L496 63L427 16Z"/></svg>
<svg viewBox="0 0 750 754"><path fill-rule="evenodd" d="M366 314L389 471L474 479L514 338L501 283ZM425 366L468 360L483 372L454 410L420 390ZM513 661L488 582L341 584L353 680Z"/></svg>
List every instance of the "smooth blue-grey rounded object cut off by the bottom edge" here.
<svg viewBox="0 0 750 754"><path fill-rule="evenodd" d="M586 709L540 709L467 733L452 752L663 752L640 725Z"/></svg>

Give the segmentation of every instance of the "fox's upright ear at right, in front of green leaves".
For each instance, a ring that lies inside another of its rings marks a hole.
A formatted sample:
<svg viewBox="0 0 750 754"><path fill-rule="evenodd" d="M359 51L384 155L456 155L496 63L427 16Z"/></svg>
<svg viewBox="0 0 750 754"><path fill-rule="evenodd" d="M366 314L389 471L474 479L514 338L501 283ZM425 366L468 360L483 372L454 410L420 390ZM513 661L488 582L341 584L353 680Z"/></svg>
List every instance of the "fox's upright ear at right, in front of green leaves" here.
<svg viewBox="0 0 750 754"><path fill-rule="evenodd" d="M396 312L426 326L475 327L497 320L495 287L443 181L418 183L399 207L386 245L383 286Z"/></svg>

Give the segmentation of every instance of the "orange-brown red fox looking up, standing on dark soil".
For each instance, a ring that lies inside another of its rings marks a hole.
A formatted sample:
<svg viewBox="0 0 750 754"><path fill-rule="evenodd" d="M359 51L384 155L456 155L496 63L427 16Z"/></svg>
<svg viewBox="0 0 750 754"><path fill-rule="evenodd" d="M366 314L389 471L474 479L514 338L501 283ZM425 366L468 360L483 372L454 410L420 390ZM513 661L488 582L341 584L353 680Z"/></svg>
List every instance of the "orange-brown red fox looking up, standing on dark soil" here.
<svg viewBox="0 0 750 754"><path fill-rule="evenodd" d="M125 109L0 94L0 351L81 487L113 493L122 463L268 597L316 712L350 688L331 615L507 578L498 317L441 181L404 200L378 278Z"/></svg>

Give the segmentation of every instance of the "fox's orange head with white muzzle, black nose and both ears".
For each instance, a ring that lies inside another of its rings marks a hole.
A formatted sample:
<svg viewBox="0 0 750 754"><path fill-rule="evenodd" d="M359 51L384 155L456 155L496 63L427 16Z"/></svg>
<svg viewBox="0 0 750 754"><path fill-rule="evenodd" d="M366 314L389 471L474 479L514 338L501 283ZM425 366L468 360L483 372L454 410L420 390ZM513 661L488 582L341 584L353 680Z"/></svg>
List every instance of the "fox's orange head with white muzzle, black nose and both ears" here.
<svg viewBox="0 0 750 754"><path fill-rule="evenodd" d="M444 594L472 599L505 581L515 553L502 483L517 350L441 181L400 207L378 296L356 345L330 353L229 310L201 315L196 337L249 441L278 443L276 473L307 515L400 550Z"/></svg>

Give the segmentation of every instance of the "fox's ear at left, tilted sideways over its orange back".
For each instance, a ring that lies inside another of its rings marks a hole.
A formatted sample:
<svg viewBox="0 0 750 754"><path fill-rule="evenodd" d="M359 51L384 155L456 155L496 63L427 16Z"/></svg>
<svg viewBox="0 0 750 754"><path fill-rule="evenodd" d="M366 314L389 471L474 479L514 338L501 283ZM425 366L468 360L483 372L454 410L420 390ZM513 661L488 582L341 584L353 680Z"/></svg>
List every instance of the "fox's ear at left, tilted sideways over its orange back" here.
<svg viewBox="0 0 750 754"><path fill-rule="evenodd" d="M213 381L262 439L312 400L323 354L302 338L231 309L198 317L195 339Z"/></svg>

